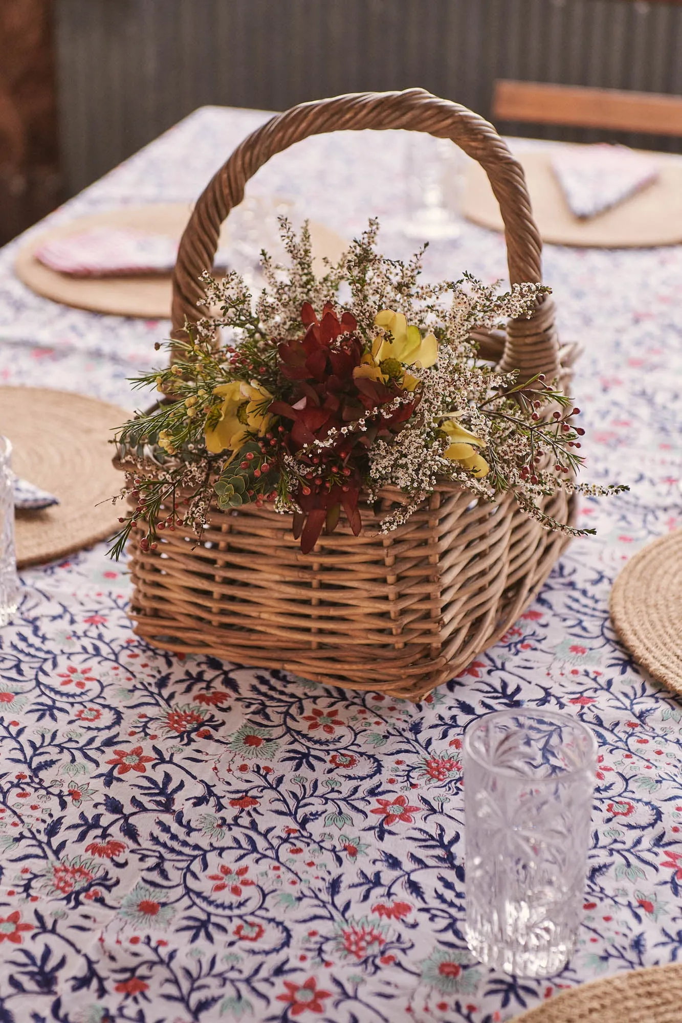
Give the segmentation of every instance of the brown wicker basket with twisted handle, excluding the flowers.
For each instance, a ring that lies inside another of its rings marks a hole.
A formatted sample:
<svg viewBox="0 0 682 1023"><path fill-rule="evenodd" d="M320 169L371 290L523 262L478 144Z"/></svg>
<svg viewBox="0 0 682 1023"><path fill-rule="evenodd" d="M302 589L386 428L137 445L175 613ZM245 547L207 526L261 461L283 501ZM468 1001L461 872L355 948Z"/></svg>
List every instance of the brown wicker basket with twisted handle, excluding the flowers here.
<svg viewBox="0 0 682 1023"><path fill-rule="evenodd" d="M339 129L407 128L451 138L478 160L506 225L513 282L541 280L541 242L523 172L495 129L421 89L339 96L281 114L246 138L200 197L173 275L174 337L197 319L198 278L210 267L220 225L248 179L271 155L308 135ZM498 346L504 370L562 376L553 305L512 321ZM355 537L343 521L302 554L289 517L253 504L211 515L197 544L165 533L157 551L131 546L135 631L172 651L212 654L254 667L419 700L495 642L538 591L566 538L530 521L511 495L472 499L447 484L388 535L377 525L399 491L363 511ZM571 519L563 492L546 503Z"/></svg>

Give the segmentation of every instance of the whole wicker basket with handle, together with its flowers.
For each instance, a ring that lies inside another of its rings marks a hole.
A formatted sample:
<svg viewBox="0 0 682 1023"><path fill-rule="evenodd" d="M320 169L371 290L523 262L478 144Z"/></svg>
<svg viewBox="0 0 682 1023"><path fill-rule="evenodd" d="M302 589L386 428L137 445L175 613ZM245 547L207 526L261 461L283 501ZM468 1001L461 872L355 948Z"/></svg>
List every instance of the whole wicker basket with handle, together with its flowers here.
<svg viewBox="0 0 682 1023"><path fill-rule="evenodd" d="M307 232L284 224L290 266L265 258L260 296L213 280L247 180L337 128L427 131L478 160L511 291L424 285L420 256L381 256L372 221L322 279ZM171 364L137 382L164 397L118 438L131 510L113 553L130 541L137 634L411 700L501 636L583 532L570 352L541 249L505 142L422 89L303 103L244 139L180 242Z"/></svg>

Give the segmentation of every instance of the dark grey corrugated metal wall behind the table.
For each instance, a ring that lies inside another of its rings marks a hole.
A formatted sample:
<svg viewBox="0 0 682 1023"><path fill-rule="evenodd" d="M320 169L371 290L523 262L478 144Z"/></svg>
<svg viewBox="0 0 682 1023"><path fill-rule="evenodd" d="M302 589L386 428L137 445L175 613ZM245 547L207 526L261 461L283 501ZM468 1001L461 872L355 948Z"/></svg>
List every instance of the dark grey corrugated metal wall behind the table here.
<svg viewBox="0 0 682 1023"><path fill-rule="evenodd" d="M496 78L682 93L682 7L670 3L56 0L56 13L71 193L204 103L285 109L420 85L489 117Z"/></svg>

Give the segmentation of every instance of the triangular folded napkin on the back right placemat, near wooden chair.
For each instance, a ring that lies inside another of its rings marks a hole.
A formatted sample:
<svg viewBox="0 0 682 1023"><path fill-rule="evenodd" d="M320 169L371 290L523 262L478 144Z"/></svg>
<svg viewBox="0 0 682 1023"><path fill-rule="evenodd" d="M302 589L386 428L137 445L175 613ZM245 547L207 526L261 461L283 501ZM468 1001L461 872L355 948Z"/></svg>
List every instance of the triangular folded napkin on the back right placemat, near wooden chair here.
<svg viewBox="0 0 682 1023"><path fill-rule="evenodd" d="M560 148L552 170L577 217L594 217L646 187L658 177L655 159L625 145Z"/></svg>

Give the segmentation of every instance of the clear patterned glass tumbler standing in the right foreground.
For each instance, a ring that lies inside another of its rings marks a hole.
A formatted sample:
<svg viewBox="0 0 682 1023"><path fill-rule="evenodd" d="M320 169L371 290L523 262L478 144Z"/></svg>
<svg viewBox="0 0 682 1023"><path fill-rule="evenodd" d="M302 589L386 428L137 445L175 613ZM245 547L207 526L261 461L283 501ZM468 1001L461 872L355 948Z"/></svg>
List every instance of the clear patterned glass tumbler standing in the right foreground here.
<svg viewBox="0 0 682 1023"><path fill-rule="evenodd" d="M466 936L486 966L549 977L570 958L596 758L593 732L552 711L500 711L467 729Z"/></svg>

